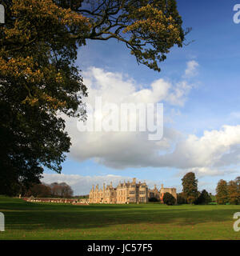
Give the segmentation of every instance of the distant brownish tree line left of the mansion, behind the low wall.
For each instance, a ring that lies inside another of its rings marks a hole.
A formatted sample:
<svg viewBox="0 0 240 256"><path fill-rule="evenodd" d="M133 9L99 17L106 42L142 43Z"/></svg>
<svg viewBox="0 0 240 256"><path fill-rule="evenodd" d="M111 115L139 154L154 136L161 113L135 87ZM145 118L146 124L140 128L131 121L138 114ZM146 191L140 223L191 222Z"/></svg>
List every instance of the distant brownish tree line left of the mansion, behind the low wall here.
<svg viewBox="0 0 240 256"><path fill-rule="evenodd" d="M54 182L49 184L40 183L33 184L30 188L23 192L22 196L35 198L72 198L74 191L66 182Z"/></svg>

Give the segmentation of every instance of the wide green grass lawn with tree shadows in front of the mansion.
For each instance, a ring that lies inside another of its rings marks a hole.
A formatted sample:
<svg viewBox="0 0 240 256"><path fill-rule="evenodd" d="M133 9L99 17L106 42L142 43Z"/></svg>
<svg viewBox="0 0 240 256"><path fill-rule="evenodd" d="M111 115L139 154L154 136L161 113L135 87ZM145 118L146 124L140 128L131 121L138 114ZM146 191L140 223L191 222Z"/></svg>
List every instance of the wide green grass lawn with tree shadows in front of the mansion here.
<svg viewBox="0 0 240 256"><path fill-rule="evenodd" d="M238 239L240 206L90 205L25 202L0 196L0 239Z"/></svg>

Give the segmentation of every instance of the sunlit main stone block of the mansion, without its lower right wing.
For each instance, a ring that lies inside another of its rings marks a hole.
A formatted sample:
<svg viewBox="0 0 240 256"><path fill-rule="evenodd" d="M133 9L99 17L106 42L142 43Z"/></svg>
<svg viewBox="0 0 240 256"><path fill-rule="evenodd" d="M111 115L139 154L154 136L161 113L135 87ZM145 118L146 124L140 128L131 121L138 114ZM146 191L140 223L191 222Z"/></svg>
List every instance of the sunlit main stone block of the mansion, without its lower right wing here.
<svg viewBox="0 0 240 256"><path fill-rule="evenodd" d="M146 182L137 183L136 178L133 182L119 182L114 188L112 182L110 186L103 184L99 190L98 185L90 190L90 203L129 203L129 202L148 202L148 187Z"/></svg>

